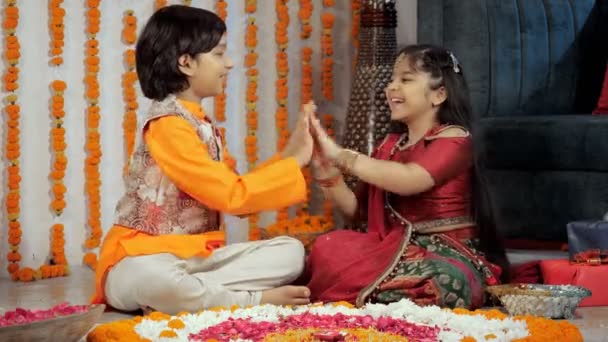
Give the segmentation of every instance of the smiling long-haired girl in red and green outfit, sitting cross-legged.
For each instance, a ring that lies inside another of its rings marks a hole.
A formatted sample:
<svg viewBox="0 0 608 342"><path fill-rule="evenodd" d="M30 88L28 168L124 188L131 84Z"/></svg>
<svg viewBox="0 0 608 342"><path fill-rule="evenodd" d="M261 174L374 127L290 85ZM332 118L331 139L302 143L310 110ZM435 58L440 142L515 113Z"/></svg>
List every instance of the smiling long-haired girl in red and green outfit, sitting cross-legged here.
<svg viewBox="0 0 608 342"><path fill-rule="evenodd" d="M462 67L443 48L406 47L386 97L391 119L407 129L371 157L340 148L312 119L318 182L347 219L367 220L368 231L317 239L304 275L311 300L479 307L507 262L474 158ZM342 172L359 178L357 194Z"/></svg>

